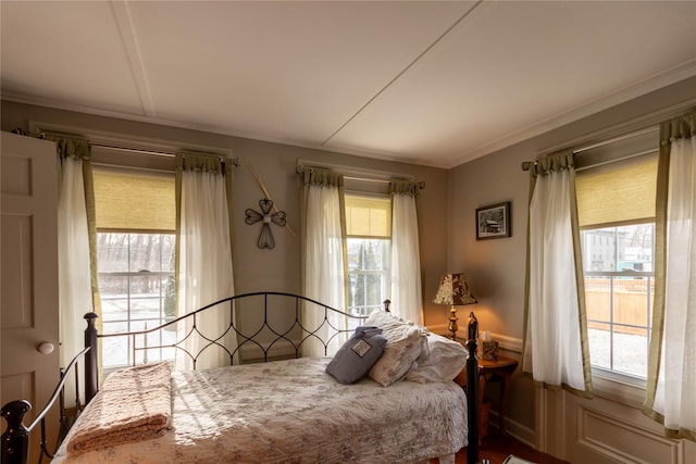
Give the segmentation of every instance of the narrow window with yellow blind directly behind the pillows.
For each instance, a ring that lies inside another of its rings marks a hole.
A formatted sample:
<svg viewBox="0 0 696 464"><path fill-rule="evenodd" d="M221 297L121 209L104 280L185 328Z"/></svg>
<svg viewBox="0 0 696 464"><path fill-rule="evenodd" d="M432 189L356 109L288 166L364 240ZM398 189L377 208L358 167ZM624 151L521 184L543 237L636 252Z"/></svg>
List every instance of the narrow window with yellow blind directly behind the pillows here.
<svg viewBox="0 0 696 464"><path fill-rule="evenodd" d="M348 311L369 315L389 298L391 200L346 193Z"/></svg>

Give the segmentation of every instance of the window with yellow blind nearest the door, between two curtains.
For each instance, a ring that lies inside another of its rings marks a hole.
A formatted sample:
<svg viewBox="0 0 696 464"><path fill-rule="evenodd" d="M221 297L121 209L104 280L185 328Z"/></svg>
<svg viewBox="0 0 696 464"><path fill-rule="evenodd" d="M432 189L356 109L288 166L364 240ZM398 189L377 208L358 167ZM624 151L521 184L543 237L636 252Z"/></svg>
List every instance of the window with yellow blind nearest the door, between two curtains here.
<svg viewBox="0 0 696 464"><path fill-rule="evenodd" d="M174 174L94 167L98 280L102 333L152 328L175 317ZM170 337L171 336L171 337ZM171 333L147 343L173 342ZM104 338L104 368L133 362L130 339ZM148 361L172 360L173 350L152 349Z"/></svg>

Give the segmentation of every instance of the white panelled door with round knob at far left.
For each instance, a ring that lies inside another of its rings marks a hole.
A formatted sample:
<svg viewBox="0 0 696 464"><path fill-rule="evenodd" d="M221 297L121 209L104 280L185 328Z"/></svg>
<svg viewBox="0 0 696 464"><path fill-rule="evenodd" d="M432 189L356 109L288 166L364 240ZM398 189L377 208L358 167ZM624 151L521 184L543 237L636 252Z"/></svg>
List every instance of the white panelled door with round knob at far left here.
<svg viewBox="0 0 696 464"><path fill-rule="evenodd" d="M0 402L29 401L28 425L60 378L55 143L0 134ZM51 343L53 352L39 352L44 342ZM47 418L47 430L52 452L58 414ZM38 435L32 435L32 462L38 457Z"/></svg>

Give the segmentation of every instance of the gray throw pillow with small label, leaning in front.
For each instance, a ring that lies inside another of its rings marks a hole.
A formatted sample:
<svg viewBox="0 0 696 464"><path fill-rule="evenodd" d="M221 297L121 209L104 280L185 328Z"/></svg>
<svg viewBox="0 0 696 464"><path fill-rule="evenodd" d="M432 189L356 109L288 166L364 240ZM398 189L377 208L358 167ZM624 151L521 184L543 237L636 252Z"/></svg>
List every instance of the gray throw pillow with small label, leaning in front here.
<svg viewBox="0 0 696 464"><path fill-rule="evenodd" d="M360 326L326 365L326 372L341 384L355 384L377 362L387 339L382 329Z"/></svg>

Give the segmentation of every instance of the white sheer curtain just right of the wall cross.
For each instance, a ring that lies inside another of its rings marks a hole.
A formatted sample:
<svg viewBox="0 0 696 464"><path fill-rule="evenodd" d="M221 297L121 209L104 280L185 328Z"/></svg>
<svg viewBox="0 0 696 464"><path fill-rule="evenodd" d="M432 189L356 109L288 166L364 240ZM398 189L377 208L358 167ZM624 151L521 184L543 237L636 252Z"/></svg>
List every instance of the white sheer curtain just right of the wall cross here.
<svg viewBox="0 0 696 464"><path fill-rule="evenodd" d="M302 239L302 294L320 303L344 311L346 308L346 274L343 220L343 176L323 171L304 173L303 239ZM326 323L338 329L347 327L345 316L324 312L307 305L301 312L301 323L309 330L316 328L325 338ZM306 335L306 334L304 334ZM310 337L302 344L302 355L333 355L346 340L336 337L326 352L324 346Z"/></svg>

